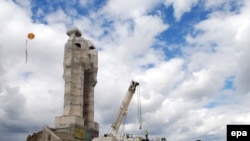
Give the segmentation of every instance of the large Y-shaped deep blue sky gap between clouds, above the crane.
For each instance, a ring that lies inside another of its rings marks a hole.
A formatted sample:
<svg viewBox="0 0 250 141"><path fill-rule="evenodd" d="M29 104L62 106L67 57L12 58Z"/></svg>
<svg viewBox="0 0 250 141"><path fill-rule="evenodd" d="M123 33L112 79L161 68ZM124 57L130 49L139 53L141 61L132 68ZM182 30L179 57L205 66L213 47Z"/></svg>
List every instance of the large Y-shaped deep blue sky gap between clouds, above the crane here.
<svg viewBox="0 0 250 141"><path fill-rule="evenodd" d="M193 33L193 36L202 34L201 31L195 31L193 26L206 19L211 12L205 10L204 4L200 3L192 7L191 12L184 13L180 21L176 21L172 5L166 7L164 4L160 4L152 11L149 14L161 16L165 23L169 25L167 30L156 36L160 44L153 46L153 48L161 48L166 55L166 59L182 55L182 47L186 45L186 36L190 33Z"/></svg>

